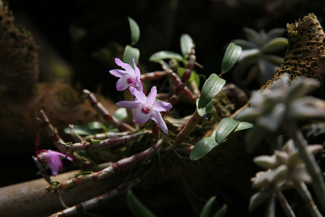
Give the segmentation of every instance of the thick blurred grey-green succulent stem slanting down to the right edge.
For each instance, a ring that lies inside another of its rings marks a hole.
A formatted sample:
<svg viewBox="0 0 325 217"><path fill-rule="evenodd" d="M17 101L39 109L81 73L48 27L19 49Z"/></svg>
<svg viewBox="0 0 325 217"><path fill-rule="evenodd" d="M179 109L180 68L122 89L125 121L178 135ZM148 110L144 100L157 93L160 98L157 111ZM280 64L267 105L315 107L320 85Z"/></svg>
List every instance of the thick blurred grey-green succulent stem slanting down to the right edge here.
<svg viewBox="0 0 325 217"><path fill-rule="evenodd" d="M325 183L315 157L312 153L307 151L307 141L294 123L288 122L284 127L289 137L294 140L300 156L306 164L307 171L313 180L312 186L320 204L320 208L325 212Z"/></svg>

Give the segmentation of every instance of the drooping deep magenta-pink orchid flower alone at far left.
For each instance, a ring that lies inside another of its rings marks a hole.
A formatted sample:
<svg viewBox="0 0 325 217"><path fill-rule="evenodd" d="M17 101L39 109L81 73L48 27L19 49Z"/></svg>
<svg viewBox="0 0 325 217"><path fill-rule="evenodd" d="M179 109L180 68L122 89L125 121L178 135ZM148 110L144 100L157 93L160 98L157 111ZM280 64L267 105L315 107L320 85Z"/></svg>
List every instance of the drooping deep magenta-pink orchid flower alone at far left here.
<svg viewBox="0 0 325 217"><path fill-rule="evenodd" d="M52 150L39 150L37 157L41 160L45 160L45 163L50 168L52 174L56 176L62 170L62 162L60 157L66 158L72 161L72 158L67 157L65 154L52 151Z"/></svg>

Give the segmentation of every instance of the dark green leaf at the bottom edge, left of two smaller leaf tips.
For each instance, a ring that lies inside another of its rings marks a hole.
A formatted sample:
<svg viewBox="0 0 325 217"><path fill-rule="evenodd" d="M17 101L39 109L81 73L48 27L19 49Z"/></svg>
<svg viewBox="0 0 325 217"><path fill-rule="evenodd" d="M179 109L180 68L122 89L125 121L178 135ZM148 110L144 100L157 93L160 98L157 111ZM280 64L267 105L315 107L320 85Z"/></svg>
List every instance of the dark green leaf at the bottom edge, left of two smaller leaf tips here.
<svg viewBox="0 0 325 217"><path fill-rule="evenodd" d="M135 217L155 217L147 207L141 203L141 201L133 194L132 190L128 190L126 193L126 202L128 208L131 210Z"/></svg>

